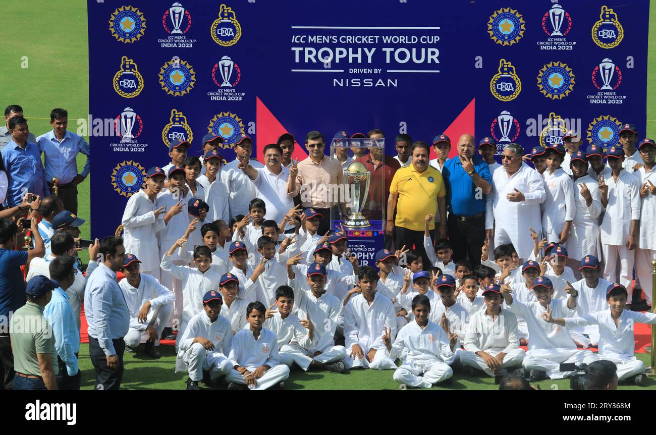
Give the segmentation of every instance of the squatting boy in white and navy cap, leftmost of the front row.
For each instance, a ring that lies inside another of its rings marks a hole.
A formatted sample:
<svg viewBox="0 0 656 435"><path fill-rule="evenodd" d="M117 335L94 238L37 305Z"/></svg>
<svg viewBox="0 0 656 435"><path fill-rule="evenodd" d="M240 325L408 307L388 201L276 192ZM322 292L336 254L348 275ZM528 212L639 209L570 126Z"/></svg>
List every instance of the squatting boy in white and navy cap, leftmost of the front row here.
<svg viewBox="0 0 656 435"><path fill-rule="evenodd" d="M233 365L228 360L232 329L230 322L218 315L221 305L220 293L213 290L205 293L203 311L191 318L182 333L175 371L189 372L188 390L199 388L203 370L209 371L210 379L217 379L232 370Z"/></svg>

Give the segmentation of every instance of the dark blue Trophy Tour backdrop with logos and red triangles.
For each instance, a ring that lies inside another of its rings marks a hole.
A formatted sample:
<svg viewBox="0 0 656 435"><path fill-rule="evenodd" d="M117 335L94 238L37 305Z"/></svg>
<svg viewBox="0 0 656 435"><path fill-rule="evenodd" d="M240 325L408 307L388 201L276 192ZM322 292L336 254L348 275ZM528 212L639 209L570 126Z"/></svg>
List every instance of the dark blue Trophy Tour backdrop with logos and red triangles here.
<svg viewBox="0 0 656 435"><path fill-rule="evenodd" d="M388 155L398 133L474 132L499 150L565 129L610 146L626 122L644 136L647 0L89 0L88 13L93 237L119 230L169 140L200 155L209 130L226 161L241 132L257 156L289 131L300 158L313 129L382 129Z"/></svg>

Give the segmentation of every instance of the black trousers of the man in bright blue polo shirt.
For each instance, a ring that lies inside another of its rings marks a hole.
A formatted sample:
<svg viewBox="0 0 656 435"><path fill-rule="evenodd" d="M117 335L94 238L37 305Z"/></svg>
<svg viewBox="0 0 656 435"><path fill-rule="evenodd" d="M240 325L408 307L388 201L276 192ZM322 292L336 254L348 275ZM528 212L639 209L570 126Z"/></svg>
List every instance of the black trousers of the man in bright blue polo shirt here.
<svg viewBox="0 0 656 435"><path fill-rule="evenodd" d="M469 257L474 272L476 266L481 264L481 248L485 243L485 213L466 220L449 214L447 231L453 249L453 261Z"/></svg>

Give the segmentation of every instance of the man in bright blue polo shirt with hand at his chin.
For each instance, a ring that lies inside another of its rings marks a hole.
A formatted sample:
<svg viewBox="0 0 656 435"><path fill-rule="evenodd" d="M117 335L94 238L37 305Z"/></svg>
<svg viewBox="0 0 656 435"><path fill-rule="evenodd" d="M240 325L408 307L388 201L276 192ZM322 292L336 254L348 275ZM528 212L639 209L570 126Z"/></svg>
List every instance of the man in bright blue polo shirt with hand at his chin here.
<svg viewBox="0 0 656 435"><path fill-rule="evenodd" d="M458 155L442 168L449 211L447 231L453 260L468 256L472 268L476 268L485 242L485 195L492 190L492 177L487 163L474 155L474 136L460 136L457 146Z"/></svg>

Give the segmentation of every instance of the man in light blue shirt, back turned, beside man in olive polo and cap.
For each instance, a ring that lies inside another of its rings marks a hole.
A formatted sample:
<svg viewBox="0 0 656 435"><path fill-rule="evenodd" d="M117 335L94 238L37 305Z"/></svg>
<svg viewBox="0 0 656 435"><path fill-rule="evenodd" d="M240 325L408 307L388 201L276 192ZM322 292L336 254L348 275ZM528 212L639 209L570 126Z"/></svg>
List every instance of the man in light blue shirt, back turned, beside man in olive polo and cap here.
<svg viewBox="0 0 656 435"><path fill-rule="evenodd" d="M57 350L59 373L57 374L58 390L79 390L80 370L77 363L77 353L80 350L80 331L77 329L75 314L68 303L66 289L75 282L77 269L73 266L75 259L68 255L56 257L49 264L51 279L59 283L52 291L52 299L45 306L43 316L52 326L54 348Z"/></svg>

